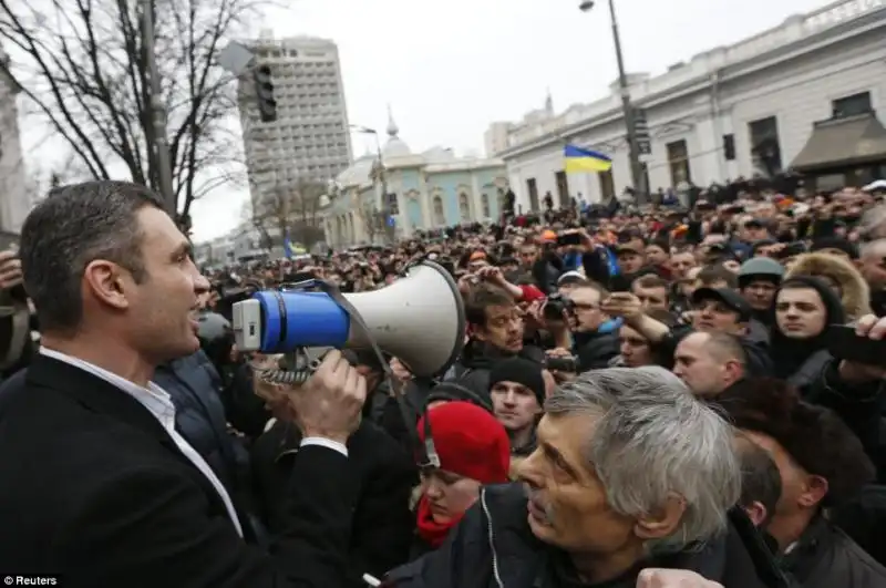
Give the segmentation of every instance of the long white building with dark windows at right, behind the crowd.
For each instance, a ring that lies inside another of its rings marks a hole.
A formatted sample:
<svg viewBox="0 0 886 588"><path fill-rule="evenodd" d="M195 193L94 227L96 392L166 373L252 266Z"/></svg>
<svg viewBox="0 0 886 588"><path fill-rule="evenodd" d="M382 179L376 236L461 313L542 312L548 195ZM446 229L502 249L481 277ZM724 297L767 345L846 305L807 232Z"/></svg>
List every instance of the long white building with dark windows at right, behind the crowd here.
<svg viewBox="0 0 886 588"><path fill-rule="evenodd" d="M791 167L816 122L886 112L885 39L886 0L841 0L662 75L629 75L631 102L649 126L646 185L656 192L774 174ZM618 84L610 90L512 125L497 155L524 212L539 209L547 193L557 204L568 196L595 203L631 185ZM566 143L606 153L611 172L567 176Z"/></svg>

